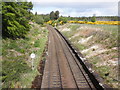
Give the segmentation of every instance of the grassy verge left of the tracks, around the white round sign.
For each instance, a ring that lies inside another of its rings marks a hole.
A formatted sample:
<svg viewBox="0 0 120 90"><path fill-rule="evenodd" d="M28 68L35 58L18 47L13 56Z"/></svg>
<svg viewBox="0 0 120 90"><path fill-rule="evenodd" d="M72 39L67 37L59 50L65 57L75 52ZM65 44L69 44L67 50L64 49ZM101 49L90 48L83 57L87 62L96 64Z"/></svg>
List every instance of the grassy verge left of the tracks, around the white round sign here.
<svg viewBox="0 0 120 90"><path fill-rule="evenodd" d="M48 31L37 24L25 39L3 39L2 44L2 87L30 88L47 41ZM35 53L34 70L31 69L30 54Z"/></svg>

